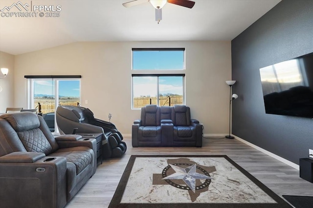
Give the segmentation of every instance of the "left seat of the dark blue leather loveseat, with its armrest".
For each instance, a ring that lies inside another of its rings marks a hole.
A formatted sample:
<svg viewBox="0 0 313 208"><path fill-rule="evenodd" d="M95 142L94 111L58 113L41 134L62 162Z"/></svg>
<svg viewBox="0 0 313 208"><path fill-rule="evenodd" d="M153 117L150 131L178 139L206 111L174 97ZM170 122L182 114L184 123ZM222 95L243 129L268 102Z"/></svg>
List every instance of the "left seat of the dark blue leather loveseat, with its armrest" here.
<svg viewBox="0 0 313 208"><path fill-rule="evenodd" d="M160 108L154 104L141 108L140 120L132 126L132 145L161 146Z"/></svg>

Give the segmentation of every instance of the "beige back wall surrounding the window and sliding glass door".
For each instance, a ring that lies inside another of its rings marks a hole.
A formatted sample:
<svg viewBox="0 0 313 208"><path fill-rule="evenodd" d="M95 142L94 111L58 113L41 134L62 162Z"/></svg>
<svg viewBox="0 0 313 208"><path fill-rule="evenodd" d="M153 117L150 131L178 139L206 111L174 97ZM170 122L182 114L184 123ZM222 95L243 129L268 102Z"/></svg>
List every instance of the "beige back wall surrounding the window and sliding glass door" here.
<svg viewBox="0 0 313 208"><path fill-rule="evenodd" d="M140 110L131 109L132 48L186 49L186 105L204 134L227 134L231 45L225 42L77 42L15 56L15 105L26 107L24 75L82 75L82 106L131 134ZM88 104L85 104L88 100Z"/></svg>

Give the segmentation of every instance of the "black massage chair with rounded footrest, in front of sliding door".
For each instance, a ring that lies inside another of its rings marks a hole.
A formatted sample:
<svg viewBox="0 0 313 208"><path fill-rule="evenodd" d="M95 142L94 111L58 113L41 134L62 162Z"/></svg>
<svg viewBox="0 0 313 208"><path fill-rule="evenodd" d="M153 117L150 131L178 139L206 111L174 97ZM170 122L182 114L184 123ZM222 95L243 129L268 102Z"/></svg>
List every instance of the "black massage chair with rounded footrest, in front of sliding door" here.
<svg viewBox="0 0 313 208"><path fill-rule="evenodd" d="M60 105L56 110L56 121L64 134L71 134L74 128L77 128L76 133L103 133L102 141L106 144L102 148L103 159L120 157L126 152L126 143L115 125L94 118L89 108Z"/></svg>

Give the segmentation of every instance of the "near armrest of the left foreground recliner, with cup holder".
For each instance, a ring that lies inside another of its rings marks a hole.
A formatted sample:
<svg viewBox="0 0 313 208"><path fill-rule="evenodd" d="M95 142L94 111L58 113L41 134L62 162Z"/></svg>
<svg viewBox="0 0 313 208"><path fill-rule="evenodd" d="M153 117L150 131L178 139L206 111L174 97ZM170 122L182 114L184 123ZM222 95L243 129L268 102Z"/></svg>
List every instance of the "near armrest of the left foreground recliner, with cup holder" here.
<svg viewBox="0 0 313 208"><path fill-rule="evenodd" d="M19 153L29 154L32 152ZM40 157L42 154L37 156ZM17 155L16 152L13 157L18 157ZM11 156L12 153L7 157ZM29 154L29 157L36 158L33 154ZM42 157L33 163L0 163L0 207L29 205L25 202L31 202L32 207L65 207L67 203L67 160L65 157L54 157L53 160L45 162L49 158L52 157ZM16 199L17 193L18 200Z"/></svg>

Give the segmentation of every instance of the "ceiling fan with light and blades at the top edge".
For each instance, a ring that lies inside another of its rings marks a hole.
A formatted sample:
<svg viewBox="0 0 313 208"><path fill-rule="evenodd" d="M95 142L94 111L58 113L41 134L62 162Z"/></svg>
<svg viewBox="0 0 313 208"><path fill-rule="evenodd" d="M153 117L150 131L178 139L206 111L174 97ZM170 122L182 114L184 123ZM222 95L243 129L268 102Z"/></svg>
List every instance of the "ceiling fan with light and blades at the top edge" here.
<svg viewBox="0 0 313 208"><path fill-rule="evenodd" d="M195 5L194 1L191 0L132 0L126 3L123 3L125 7L136 6L142 3L150 1L153 7L156 8L156 21L159 23L162 20L162 7L167 3L173 3L179 6L184 6L187 8L192 8Z"/></svg>

